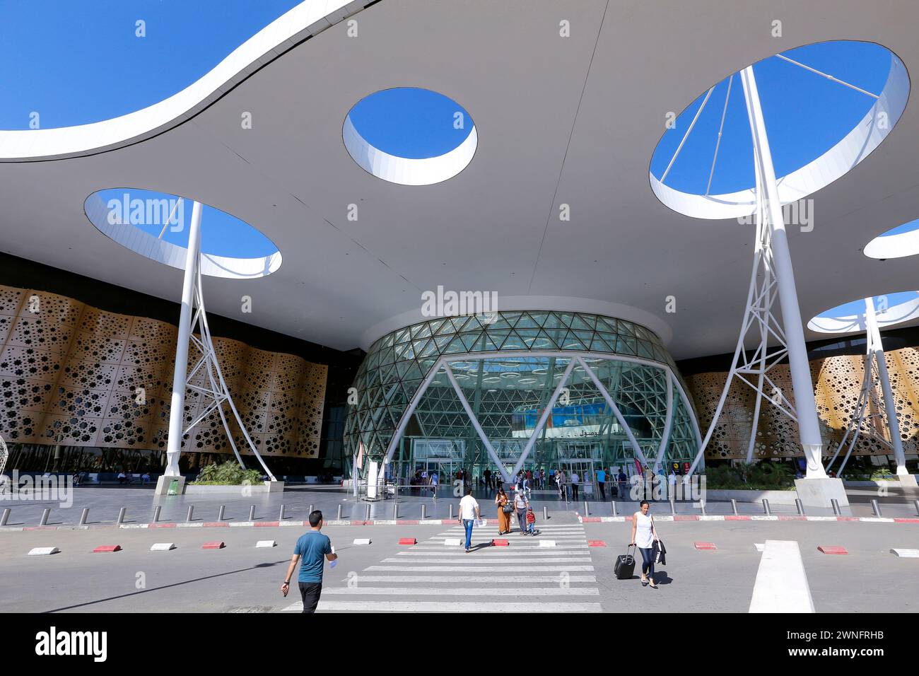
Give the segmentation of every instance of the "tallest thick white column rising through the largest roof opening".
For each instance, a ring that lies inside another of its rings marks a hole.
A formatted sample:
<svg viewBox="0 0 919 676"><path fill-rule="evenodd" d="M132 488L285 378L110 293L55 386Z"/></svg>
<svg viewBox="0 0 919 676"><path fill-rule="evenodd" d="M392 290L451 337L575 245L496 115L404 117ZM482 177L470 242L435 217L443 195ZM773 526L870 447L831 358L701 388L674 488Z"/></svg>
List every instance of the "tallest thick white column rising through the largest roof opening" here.
<svg viewBox="0 0 919 676"><path fill-rule="evenodd" d="M756 170L761 174L765 196L757 196L766 201L766 215L771 234L772 256L776 268L778 301L782 308L782 324L789 349L789 370L791 386L795 395L795 412L798 418L800 442L807 458L807 478L825 478L821 452L823 441L820 437L820 425L817 421L817 406L813 397L811 368L807 357L807 346L804 344L804 328L801 325L798 292L795 289L794 270L791 267L788 235L785 231L785 217L782 213L782 202L778 198L776 173L772 165L772 154L766 135L766 123L760 107L759 92L756 89L753 66L747 66L741 72L743 94L746 98L747 113L750 118L750 129L753 133L754 159Z"/></svg>

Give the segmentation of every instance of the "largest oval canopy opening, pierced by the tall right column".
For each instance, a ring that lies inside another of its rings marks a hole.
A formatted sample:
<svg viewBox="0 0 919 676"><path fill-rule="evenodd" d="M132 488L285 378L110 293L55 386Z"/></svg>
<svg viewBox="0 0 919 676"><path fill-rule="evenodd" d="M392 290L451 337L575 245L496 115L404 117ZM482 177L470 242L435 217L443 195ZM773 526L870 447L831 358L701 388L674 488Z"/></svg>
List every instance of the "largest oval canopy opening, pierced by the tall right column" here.
<svg viewBox="0 0 919 676"><path fill-rule="evenodd" d="M910 91L902 61L874 42L818 42L752 68L783 205L865 159L900 120ZM676 212L720 219L755 211L743 70L702 92L654 149L652 190Z"/></svg>

